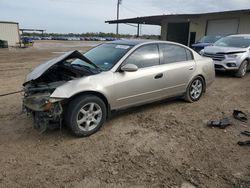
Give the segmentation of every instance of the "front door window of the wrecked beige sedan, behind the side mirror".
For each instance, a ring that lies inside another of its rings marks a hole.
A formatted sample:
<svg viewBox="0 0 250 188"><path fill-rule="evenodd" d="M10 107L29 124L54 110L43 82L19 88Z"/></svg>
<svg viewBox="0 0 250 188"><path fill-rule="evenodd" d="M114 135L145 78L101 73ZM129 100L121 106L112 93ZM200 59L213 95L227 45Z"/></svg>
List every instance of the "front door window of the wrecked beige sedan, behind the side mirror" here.
<svg viewBox="0 0 250 188"><path fill-rule="evenodd" d="M140 47L125 60L125 64L134 64L138 68L151 67L159 65L159 63L160 56L156 44Z"/></svg>

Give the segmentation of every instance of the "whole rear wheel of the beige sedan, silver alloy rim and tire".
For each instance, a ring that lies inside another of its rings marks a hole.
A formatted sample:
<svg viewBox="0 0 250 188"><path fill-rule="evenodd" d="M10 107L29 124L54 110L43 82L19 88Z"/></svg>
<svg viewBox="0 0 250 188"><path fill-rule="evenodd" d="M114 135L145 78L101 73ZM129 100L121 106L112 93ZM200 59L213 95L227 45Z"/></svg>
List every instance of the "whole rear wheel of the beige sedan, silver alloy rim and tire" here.
<svg viewBox="0 0 250 188"><path fill-rule="evenodd" d="M184 99L187 102L198 101L202 96L204 87L205 87L205 84L201 77L197 77L193 79L191 83L188 85Z"/></svg>

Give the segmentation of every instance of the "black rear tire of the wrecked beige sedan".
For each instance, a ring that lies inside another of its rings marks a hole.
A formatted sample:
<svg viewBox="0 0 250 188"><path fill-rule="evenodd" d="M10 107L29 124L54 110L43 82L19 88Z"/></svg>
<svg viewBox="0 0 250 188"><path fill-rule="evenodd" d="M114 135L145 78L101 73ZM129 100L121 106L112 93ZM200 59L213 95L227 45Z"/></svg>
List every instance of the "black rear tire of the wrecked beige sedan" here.
<svg viewBox="0 0 250 188"><path fill-rule="evenodd" d="M201 85L201 87L198 87L198 85L197 85L197 88L199 88L200 92L198 94L198 89L197 89L197 95L194 96L194 94L192 92L194 90L193 85L195 83L198 83L199 85ZM198 101L201 98L201 96L202 96L202 94L204 92L204 88L205 88L205 82L204 82L204 80L200 76L194 78L189 83L189 85L187 87L186 93L184 95L184 100L187 101L187 102L190 102L190 103Z"/></svg>

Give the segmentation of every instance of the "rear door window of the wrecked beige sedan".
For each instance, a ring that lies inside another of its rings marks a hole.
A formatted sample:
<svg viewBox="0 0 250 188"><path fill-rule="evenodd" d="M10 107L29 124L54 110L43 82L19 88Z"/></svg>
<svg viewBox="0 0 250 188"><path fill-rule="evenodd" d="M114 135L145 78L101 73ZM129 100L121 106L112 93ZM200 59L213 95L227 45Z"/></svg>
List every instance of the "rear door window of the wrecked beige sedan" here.
<svg viewBox="0 0 250 188"><path fill-rule="evenodd" d="M188 61L193 59L192 52L174 44L160 44L161 64Z"/></svg>

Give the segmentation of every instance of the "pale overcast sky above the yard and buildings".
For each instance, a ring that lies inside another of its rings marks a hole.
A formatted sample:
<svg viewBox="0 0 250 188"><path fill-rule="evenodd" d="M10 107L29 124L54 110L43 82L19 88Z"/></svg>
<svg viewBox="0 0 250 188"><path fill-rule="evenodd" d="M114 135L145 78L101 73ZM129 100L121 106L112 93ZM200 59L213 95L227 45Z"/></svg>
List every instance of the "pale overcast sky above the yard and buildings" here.
<svg viewBox="0 0 250 188"><path fill-rule="evenodd" d="M0 0L0 21L19 22L20 28L47 32L115 32L117 0ZM161 14L250 9L250 0L123 0L120 18ZM121 25L121 33L136 28ZM160 34L160 27L143 26L142 34Z"/></svg>

